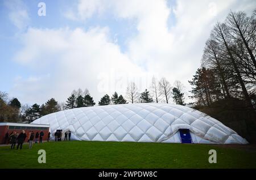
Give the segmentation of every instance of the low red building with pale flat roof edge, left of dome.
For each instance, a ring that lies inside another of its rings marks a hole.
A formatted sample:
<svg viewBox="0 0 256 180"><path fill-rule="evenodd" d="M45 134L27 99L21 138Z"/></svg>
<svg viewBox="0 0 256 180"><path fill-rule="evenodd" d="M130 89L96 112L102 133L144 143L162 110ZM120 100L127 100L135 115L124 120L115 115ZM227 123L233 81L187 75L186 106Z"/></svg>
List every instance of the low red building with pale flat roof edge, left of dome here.
<svg viewBox="0 0 256 180"><path fill-rule="evenodd" d="M44 132L43 140L48 139L48 132L49 132L49 125L44 124L26 124L26 123L10 123L10 122L1 122L0 123L0 144L3 144L5 142L5 135L6 132L22 132L24 130L27 134L27 138L25 139L25 142L28 140L28 136L30 131L36 132Z"/></svg>

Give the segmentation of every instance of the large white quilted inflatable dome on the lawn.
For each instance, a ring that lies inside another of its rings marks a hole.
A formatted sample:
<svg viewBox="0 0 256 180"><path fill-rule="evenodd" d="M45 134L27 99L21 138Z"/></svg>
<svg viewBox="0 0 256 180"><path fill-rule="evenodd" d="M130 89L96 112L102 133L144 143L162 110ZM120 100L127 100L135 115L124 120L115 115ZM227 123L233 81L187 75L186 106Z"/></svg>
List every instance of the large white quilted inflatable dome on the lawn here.
<svg viewBox="0 0 256 180"><path fill-rule="evenodd" d="M247 144L221 122L198 110L171 104L121 104L75 108L45 115L32 123L70 130L74 140L181 143L188 130L192 143Z"/></svg>

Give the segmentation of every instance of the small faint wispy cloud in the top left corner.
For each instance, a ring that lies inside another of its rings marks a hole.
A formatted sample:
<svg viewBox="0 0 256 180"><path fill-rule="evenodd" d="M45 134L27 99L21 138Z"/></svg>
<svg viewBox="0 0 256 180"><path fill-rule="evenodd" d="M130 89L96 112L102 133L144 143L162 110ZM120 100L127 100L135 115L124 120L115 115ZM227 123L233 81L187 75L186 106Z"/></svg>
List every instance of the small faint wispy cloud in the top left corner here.
<svg viewBox="0 0 256 180"><path fill-rule="evenodd" d="M5 5L11 22L19 29L26 28L30 21L26 5L21 0L5 1Z"/></svg>

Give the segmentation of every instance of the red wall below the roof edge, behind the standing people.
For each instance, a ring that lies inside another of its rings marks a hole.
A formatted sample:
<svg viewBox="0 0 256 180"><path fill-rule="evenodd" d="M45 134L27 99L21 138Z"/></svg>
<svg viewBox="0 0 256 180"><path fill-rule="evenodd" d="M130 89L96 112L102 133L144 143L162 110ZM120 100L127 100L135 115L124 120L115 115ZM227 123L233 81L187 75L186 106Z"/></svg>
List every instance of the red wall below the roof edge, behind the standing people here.
<svg viewBox="0 0 256 180"><path fill-rule="evenodd" d="M7 131L9 132L9 134L11 134L11 132L18 132L18 133L22 132L22 129L20 129L20 130L11 130L10 129L9 130L8 127L9 126L0 126L0 144L3 144L5 142L5 134L6 134ZM30 131L33 131L35 134L36 134L36 132L40 133L41 131L43 131L44 132L43 140L48 139L49 128L47 130L37 130L37 129L35 129L35 130L24 130L24 131L27 134L27 137L26 137L24 142L28 141Z"/></svg>

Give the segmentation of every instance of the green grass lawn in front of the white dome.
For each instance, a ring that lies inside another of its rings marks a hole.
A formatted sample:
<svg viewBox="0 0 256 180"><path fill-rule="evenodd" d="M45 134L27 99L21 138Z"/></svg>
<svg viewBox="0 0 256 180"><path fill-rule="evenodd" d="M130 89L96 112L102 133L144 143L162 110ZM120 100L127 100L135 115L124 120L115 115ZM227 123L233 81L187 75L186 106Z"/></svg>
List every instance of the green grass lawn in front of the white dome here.
<svg viewBox="0 0 256 180"><path fill-rule="evenodd" d="M46 150L46 164L38 150ZM216 149L217 164L209 164ZM0 147L0 168L256 168L256 151L207 144L132 142L49 142Z"/></svg>

